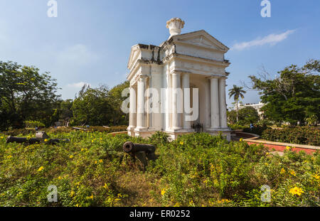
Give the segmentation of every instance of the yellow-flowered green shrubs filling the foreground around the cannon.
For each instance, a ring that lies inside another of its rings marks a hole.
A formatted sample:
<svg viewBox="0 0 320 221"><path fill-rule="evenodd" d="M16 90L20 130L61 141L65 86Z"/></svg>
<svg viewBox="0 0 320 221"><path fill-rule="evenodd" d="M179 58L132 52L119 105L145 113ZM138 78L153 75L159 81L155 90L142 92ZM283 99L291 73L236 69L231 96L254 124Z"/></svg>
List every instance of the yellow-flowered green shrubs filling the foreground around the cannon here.
<svg viewBox="0 0 320 221"><path fill-rule="evenodd" d="M55 129L58 130L58 129ZM141 139L103 131L48 131L70 143L6 144L0 134L0 206L319 206L319 153L268 154L263 146L222 136L166 134ZM32 134L28 134L31 136ZM142 172L125 141L156 144ZM58 188L49 203L48 185ZM271 202L260 200L270 185ZM301 188L301 195L292 188Z"/></svg>

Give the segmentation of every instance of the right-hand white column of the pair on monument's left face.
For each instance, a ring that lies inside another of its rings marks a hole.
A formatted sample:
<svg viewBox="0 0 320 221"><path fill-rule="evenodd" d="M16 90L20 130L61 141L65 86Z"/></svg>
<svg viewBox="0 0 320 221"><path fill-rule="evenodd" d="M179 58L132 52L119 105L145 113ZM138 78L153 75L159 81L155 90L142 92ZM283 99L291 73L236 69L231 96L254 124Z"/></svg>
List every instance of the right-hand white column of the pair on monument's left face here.
<svg viewBox="0 0 320 221"><path fill-rule="evenodd" d="M145 128L144 125L144 90L146 88L146 76L141 75L138 79L137 96L137 129Z"/></svg>

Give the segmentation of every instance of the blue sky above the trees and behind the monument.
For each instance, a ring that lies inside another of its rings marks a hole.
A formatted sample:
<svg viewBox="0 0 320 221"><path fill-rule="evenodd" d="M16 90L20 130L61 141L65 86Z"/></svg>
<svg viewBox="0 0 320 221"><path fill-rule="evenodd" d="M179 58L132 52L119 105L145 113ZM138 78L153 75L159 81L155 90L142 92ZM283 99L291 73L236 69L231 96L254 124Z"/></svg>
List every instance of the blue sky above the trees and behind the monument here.
<svg viewBox="0 0 320 221"><path fill-rule="evenodd" d="M274 76L320 57L319 0L270 0L270 18L260 16L260 0L57 1L58 17L48 18L48 0L0 0L0 60L51 72L63 99L74 98L84 82L123 82L131 46L161 44L172 17L186 22L182 33L204 29L231 48L227 90L262 65ZM259 96L247 92L242 102Z"/></svg>

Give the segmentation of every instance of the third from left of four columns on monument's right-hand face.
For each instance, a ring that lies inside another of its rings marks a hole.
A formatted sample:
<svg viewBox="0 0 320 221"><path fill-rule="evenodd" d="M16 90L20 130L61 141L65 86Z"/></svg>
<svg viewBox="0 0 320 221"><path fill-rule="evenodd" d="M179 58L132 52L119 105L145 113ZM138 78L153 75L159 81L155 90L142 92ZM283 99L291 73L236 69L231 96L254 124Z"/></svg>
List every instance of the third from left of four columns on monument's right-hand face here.
<svg viewBox="0 0 320 221"><path fill-rule="evenodd" d="M220 128L218 77L210 78L211 129Z"/></svg>

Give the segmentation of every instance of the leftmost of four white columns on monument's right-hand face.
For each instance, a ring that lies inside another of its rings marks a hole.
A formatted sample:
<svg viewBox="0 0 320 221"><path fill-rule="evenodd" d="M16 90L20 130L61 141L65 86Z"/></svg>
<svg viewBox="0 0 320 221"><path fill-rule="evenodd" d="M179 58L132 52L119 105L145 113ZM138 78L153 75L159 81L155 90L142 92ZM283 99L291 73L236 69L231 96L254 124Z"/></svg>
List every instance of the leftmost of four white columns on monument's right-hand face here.
<svg viewBox="0 0 320 221"><path fill-rule="evenodd" d="M172 72L171 79L172 79L172 127L171 129L181 129L181 113L178 113L178 89L181 88L180 86L180 73L179 72Z"/></svg>

